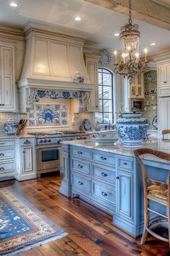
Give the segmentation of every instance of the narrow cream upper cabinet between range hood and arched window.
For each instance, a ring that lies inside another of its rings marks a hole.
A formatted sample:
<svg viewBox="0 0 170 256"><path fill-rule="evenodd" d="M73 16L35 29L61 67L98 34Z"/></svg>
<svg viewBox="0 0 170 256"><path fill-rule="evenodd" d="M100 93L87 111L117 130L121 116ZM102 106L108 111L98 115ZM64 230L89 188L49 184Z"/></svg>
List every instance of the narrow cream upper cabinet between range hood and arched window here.
<svg viewBox="0 0 170 256"><path fill-rule="evenodd" d="M99 111L99 85L98 85L98 60L99 56L94 54L85 54L86 57L86 69L89 74L89 80L93 84L93 90L91 91L89 99L88 111Z"/></svg>

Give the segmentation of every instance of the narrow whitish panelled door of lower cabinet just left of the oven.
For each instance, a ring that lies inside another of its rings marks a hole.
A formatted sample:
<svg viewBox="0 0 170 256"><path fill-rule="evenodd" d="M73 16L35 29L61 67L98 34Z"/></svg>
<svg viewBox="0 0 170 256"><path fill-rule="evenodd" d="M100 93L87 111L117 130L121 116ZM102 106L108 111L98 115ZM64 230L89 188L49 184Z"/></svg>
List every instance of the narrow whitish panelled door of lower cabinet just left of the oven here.
<svg viewBox="0 0 170 256"><path fill-rule="evenodd" d="M33 171L32 147L23 148L22 168L23 172Z"/></svg>

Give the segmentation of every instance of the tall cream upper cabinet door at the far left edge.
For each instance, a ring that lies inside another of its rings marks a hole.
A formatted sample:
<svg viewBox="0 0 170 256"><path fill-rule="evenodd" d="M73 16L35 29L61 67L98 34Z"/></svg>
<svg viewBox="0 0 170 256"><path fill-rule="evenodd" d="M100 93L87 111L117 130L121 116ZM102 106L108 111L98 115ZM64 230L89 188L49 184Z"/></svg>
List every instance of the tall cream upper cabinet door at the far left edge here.
<svg viewBox="0 0 170 256"><path fill-rule="evenodd" d="M16 111L16 88L14 80L14 46L0 45L0 111Z"/></svg>

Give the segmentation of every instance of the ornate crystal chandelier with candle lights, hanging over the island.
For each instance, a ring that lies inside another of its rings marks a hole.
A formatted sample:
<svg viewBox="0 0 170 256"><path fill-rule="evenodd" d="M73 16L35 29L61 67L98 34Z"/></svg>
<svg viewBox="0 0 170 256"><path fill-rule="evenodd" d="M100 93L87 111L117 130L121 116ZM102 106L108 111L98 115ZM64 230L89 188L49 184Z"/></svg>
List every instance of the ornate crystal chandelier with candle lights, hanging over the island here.
<svg viewBox="0 0 170 256"><path fill-rule="evenodd" d="M146 68L146 54L147 48L145 48L145 61L139 59L139 39L140 31L138 30L138 24L132 23L131 14L131 1L129 1L129 19L125 26L120 28L120 41L122 42L123 50L120 63L117 63L117 51L115 54L115 74L122 74L127 76L130 84L133 82L133 77L145 71Z"/></svg>

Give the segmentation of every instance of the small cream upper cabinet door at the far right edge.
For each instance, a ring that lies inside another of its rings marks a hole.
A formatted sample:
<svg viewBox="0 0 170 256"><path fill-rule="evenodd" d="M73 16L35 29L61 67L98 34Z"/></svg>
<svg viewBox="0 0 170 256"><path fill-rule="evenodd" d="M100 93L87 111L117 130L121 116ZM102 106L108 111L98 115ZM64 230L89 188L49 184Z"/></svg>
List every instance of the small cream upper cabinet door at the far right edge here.
<svg viewBox="0 0 170 256"><path fill-rule="evenodd" d="M158 85L170 85L170 61L158 64Z"/></svg>

